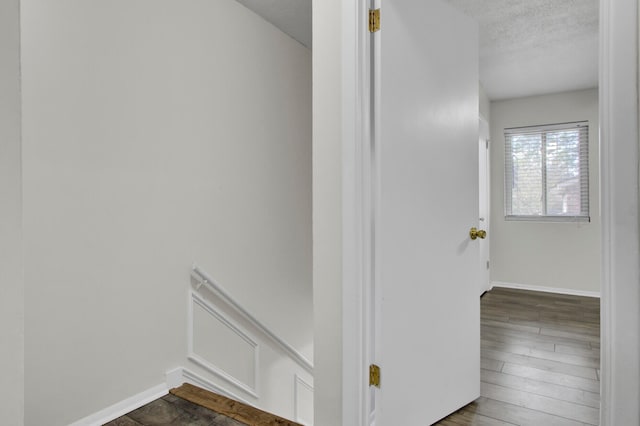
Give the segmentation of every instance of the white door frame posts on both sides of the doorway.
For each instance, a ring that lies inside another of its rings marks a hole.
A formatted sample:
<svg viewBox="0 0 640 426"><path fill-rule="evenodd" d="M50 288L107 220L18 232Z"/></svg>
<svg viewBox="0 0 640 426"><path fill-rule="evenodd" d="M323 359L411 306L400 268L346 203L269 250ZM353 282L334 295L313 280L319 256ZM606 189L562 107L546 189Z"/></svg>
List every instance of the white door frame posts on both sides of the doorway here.
<svg viewBox="0 0 640 426"><path fill-rule="evenodd" d="M321 0L316 0L321 1ZM342 424L369 424L371 324L369 0L342 2L343 297ZM384 10L384 9L383 9ZM384 22L384 11L382 12ZM384 28L384 24L383 24ZM635 42L629 40L633 36ZM638 226L638 5L600 0L602 214L600 424L639 424L640 232ZM632 339L627 337L631 336ZM382 378L384 383L384 375ZM316 405L316 409L322 407ZM387 426L387 425L379 425Z"/></svg>

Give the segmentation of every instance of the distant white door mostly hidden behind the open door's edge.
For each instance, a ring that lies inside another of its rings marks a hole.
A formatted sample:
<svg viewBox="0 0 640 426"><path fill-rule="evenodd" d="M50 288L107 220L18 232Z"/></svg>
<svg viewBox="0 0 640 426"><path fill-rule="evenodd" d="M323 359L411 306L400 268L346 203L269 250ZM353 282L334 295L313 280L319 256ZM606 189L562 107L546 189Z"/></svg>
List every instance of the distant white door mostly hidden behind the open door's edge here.
<svg viewBox="0 0 640 426"><path fill-rule="evenodd" d="M489 157L489 123L483 117L480 117L479 121L480 139L478 143L478 216L480 224L479 226L487 232L487 236L484 239L478 241L478 247L480 249L480 295L489 290L489 238L490 232L490 157Z"/></svg>

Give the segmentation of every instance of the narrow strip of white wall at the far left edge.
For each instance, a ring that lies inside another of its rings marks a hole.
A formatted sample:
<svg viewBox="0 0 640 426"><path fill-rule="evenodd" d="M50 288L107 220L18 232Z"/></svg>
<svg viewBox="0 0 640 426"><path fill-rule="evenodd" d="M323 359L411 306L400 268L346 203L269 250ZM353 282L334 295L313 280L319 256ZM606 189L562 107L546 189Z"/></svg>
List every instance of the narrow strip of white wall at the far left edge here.
<svg viewBox="0 0 640 426"><path fill-rule="evenodd" d="M0 417L23 423L24 285L19 2L0 3Z"/></svg>

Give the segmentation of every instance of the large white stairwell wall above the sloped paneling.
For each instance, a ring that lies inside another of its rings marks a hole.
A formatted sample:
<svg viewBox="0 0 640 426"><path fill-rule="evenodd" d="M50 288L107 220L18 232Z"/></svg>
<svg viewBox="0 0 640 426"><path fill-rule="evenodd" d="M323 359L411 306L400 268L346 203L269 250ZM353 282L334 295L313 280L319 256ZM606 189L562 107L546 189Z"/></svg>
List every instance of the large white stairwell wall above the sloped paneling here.
<svg viewBox="0 0 640 426"><path fill-rule="evenodd" d="M309 50L233 0L21 22L26 424L188 364L194 261L312 358Z"/></svg>

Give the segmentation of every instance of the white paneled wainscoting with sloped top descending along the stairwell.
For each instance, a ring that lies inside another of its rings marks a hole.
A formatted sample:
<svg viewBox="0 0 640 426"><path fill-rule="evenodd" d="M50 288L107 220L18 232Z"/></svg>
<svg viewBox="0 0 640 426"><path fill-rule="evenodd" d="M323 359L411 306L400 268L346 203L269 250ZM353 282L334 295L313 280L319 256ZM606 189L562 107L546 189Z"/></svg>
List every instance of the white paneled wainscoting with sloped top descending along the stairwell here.
<svg viewBox="0 0 640 426"><path fill-rule="evenodd" d="M313 424L313 366L194 269L189 292L187 362L194 383L304 425Z"/></svg>

